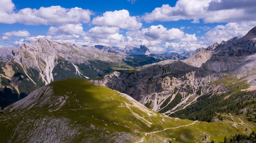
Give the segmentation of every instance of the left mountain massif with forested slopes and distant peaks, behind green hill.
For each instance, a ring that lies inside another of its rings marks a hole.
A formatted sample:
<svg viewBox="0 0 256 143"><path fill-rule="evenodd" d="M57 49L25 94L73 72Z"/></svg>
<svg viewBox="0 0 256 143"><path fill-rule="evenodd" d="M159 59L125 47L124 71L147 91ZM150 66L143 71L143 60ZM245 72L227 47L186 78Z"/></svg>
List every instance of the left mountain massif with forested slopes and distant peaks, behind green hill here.
<svg viewBox="0 0 256 143"><path fill-rule="evenodd" d="M97 78L160 61L149 54L142 45L124 49L103 45L89 47L45 38L17 48L0 48L0 106L18 101L52 81Z"/></svg>

